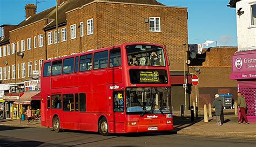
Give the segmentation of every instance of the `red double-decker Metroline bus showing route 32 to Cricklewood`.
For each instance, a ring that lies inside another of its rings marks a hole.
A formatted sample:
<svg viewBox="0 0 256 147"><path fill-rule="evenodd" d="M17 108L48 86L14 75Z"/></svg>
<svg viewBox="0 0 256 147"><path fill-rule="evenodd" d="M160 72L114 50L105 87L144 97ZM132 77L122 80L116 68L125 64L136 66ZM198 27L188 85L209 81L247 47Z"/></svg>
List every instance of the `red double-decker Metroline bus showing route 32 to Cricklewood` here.
<svg viewBox="0 0 256 147"><path fill-rule="evenodd" d="M129 43L43 62L42 125L112 133L173 130L164 46Z"/></svg>

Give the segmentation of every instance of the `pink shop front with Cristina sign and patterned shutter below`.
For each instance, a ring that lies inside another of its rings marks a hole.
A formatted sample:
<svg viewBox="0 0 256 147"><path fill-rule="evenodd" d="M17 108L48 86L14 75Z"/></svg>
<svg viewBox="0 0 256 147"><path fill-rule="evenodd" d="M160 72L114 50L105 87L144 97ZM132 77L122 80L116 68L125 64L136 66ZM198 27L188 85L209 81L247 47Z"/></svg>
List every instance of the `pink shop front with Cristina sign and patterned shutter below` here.
<svg viewBox="0 0 256 147"><path fill-rule="evenodd" d="M238 81L238 91L247 104L247 118L256 123L256 51L236 52L232 57L230 78Z"/></svg>

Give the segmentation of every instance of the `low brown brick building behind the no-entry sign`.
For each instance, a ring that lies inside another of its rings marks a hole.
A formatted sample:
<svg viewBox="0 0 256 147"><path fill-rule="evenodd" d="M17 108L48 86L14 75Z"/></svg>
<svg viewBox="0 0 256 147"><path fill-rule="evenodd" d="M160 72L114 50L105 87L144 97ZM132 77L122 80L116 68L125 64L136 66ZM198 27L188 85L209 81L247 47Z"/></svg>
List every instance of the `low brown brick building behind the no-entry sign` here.
<svg viewBox="0 0 256 147"><path fill-rule="evenodd" d="M229 78L232 70L232 55L237 47L218 46L205 48L199 60L203 61L199 66L191 66L190 73L196 72L194 67L200 68L199 84L197 86L198 106L204 108L204 104L213 103L215 94L232 94L237 100L237 82ZM195 101L196 89L191 87L191 103Z"/></svg>

